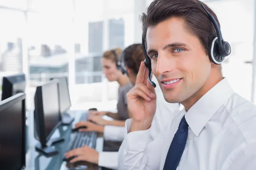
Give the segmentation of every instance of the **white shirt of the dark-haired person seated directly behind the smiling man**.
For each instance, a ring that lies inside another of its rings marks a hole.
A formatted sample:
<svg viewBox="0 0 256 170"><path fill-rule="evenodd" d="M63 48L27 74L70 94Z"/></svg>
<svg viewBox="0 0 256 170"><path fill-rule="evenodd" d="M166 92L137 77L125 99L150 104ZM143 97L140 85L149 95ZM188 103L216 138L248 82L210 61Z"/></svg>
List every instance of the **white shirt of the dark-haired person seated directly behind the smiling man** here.
<svg viewBox="0 0 256 170"><path fill-rule="evenodd" d="M163 98L161 89L155 88L157 94L157 109L151 125L150 139L154 140L167 125L170 116L179 111L179 104L168 103ZM123 141L127 130L125 127L105 126L104 139L110 141ZM123 144L122 144L123 145ZM120 148L122 148L122 145ZM117 170L118 152L100 152L98 165Z"/></svg>

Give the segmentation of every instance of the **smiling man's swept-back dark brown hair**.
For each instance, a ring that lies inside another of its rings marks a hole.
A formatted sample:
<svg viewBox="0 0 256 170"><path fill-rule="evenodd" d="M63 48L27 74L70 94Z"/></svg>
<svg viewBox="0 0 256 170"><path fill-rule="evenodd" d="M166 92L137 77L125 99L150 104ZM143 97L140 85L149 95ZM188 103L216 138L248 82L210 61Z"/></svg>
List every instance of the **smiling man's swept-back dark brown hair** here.
<svg viewBox="0 0 256 170"><path fill-rule="evenodd" d="M199 0L154 0L148 6L146 13L140 16L143 24L143 39L146 40L148 27L154 27L171 17L180 17L186 23L186 30L199 38L208 54L209 41L217 36L217 33L200 3L218 22L216 14ZM218 25L220 26L219 22Z"/></svg>

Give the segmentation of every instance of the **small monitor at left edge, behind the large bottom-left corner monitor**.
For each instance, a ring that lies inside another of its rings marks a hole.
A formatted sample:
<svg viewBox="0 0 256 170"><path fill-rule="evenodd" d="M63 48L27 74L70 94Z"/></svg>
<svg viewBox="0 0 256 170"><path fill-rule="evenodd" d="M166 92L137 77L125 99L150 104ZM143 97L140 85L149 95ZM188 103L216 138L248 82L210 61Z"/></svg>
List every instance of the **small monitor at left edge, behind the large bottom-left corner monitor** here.
<svg viewBox="0 0 256 170"><path fill-rule="evenodd" d="M24 93L25 88L25 74L3 77L2 100L8 99L9 97L18 93Z"/></svg>

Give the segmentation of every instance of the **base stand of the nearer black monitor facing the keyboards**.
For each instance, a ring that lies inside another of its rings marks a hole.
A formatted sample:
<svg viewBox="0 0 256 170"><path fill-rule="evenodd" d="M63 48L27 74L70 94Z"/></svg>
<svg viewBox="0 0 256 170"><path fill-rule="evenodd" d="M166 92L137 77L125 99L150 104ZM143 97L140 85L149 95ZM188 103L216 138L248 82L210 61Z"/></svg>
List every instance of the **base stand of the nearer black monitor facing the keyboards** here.
<svg viewBox="0 0 256 170"><path fill-rule="evenodd" d="M43 155L50 157L58 154L58 150L56 150L55 146L52 146L52 144L63 142L64 138L55 138L51 140L51 144L49 146L45 145L42 146L41 143L36 144L35 150L42 153Z"/></svg>

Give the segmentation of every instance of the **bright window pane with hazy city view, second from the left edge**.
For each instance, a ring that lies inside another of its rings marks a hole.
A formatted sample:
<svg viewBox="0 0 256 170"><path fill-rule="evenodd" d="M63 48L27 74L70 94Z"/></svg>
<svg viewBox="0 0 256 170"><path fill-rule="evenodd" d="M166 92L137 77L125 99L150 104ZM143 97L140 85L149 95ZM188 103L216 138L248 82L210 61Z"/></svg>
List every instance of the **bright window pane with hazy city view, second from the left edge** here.
<svg viewBox="0 0 256 170"><path fill-rule="evenodd" d="M68 76L70 23L58 17L28 14L31 87L55 77Z"/></svg>

